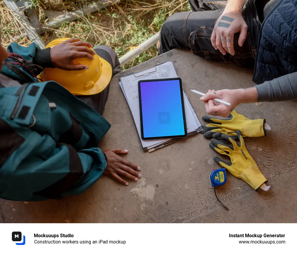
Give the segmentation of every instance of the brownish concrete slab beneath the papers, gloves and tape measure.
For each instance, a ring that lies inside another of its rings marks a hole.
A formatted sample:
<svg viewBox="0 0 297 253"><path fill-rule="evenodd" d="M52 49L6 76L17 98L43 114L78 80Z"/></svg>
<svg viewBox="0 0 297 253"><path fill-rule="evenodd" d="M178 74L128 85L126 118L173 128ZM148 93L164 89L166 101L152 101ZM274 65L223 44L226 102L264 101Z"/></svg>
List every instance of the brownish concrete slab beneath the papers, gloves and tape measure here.
<svg viewBox="0 0 297 253"><path fill-rule="evenodd" d="M271 126L266 137L247 138L246 144L272 187L268 193L255 192L228 173L227 183L218 190L219 198L229 207L226 211L217 202L208 179L211 170L219 168L212 159L216 154L201 134L152 153L140 148L119 76L165 61L173 62L199 118L205 115L204 105L190 89L206 92L253 85L251 70L211 63L181 50L119 73L112 80L104 112L112 127L100 147L128 149L125 158L140 165L143 178L124 186L102 176L82 195L59 201L0 200L0 222L296 222L296 102L252 103L237 108L248 118L266 118Z"/></svg>

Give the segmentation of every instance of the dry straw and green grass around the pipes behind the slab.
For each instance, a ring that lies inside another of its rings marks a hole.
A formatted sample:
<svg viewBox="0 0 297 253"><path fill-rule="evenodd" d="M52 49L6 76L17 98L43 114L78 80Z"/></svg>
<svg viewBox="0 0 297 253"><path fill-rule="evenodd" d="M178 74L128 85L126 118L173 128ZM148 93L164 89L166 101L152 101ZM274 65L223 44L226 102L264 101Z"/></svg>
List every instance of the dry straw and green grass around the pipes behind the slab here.
<svg viewBox="0 0 297 253"><path fill-rule="evenodd" d="M30 0L39 14L40 27L44 27L46 11L67 12L82 8L93 1L88 0ZM12 38L23 33L23 27L17 18L11 15L5 4L0 2L3 45L7 46ZM80 16L77 21L64 22L59 28L44 30L45 43L55 38L78 37L93 46L107 45L114 49L119 57L159 31L166 18L173 12L188 11L187 0L124 0L117 1L98 12ZM18 43L28 45L29 39L18 39ZM137 65L157 55L156 46L147 50L123 69Z"/></svg>

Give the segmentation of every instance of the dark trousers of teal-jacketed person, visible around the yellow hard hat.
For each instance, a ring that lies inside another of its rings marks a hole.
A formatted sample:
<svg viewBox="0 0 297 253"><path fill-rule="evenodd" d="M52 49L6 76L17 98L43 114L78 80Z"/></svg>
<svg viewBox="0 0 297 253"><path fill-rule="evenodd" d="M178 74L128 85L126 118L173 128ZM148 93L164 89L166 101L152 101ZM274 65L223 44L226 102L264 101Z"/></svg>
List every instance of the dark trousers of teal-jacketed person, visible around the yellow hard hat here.
<svg viewBox="0 0 297 253"><path fill-rule="evenodd" d="M98 54L101 58L106 60L111 65L112 76L121 72L119 57L116 55L116 52L113 51L110 47L97 46L94 48L94 51L96 52L96 54ZM104 90L102 90L98 94L77 97L102 115L105 109L105 104L108 99L109 87L110 83L106 86Z"/></svg>

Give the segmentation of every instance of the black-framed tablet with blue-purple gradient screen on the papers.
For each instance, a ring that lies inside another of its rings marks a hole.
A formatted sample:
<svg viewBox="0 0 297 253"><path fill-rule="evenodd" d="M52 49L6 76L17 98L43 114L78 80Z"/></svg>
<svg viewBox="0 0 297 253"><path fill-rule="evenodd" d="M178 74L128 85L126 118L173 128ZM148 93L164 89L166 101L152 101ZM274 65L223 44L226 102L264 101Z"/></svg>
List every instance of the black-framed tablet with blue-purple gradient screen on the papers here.
<svg viewBox="0 0 297 253"><path fill-rule="evenodd" d="M180 78L140 80L138 93L143 140L187 137Z"/></svg>

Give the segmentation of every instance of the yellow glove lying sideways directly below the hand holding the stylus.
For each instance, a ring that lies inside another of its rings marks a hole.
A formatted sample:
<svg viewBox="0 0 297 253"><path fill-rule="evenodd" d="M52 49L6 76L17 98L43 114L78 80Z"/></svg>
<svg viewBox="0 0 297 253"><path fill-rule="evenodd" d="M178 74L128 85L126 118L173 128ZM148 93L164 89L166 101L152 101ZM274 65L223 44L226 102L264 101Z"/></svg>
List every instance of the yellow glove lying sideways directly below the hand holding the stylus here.
<svg viewBox="0 0 297 253"><path fill-rule="evenodd" d="M266 136L265 119L254 119L244 117L235 110L228 118L218 119L210 116L202 116L202 119L210 124L203 125L203 136L210 138L214 133L223 132L227 135L236 135L236 130L240 130L244 137ZM216 135L217 136L217 135ZM214 138L217 138L213 136Z"/></svg>

